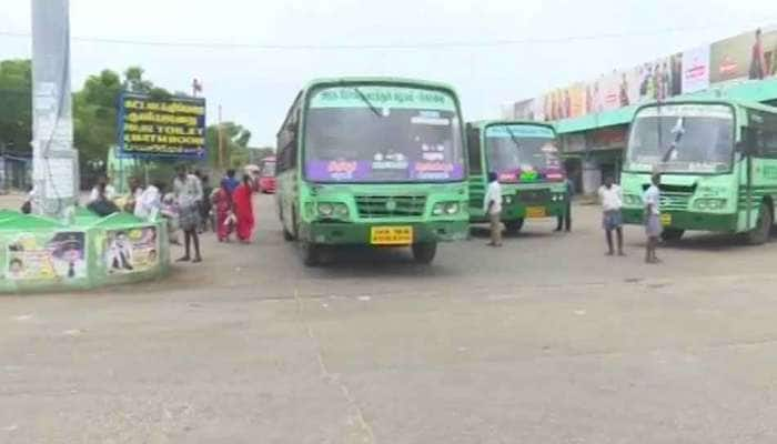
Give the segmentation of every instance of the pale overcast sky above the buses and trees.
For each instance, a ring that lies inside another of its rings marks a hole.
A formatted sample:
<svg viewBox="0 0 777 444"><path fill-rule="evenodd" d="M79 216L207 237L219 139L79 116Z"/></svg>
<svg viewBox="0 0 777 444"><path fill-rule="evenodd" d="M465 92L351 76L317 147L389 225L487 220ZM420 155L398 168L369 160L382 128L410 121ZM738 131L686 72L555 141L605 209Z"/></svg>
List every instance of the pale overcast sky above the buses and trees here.
<svg viewBox="0 0 777 444"><path fill-rule="evenodd" d="M440 80L458 90L466 120L495 118L504 103L777 22L774 0L71 0L70 6L74 37L281 46L546 40L363 50L73 42L74 90L91 73L133 64L170 90L189 90L198 77L209 121L221 104L224 120L252 131L252 145L274 145L289 104L316 77ZM2 0L0 9L0 33L30 32L29 0ZM675 31L655 32L669 29ZM29 38L0 34L0 59L28 57Z"/></svg>

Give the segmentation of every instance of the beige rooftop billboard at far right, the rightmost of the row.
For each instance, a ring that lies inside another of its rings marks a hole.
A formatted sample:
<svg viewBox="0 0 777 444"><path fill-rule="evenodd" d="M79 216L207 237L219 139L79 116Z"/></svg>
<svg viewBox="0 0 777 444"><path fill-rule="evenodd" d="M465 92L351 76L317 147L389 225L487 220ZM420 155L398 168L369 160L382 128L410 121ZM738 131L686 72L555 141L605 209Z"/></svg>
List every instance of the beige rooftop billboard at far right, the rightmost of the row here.
<svg viewBox="0 0 777 444"><path fill-rule="evenodd" d="M750 32L713 43L709 51L710 83L765 79L776 74L777 29Z"/></svg>

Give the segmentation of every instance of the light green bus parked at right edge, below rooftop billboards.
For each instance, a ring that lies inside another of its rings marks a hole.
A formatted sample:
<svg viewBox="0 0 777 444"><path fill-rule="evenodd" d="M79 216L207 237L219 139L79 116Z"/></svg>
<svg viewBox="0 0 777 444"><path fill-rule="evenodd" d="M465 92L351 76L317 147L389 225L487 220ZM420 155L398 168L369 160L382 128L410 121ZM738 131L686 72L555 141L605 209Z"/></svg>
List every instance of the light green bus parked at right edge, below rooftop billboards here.
<svg viewBox="0 0 777 444"><path fill-rule="evenodd" d="M653 172L662 173L665 240L704 230L766 242L777 199L777 108L735 100L638 108L620 176L627 223L642 223Z"/></svg>

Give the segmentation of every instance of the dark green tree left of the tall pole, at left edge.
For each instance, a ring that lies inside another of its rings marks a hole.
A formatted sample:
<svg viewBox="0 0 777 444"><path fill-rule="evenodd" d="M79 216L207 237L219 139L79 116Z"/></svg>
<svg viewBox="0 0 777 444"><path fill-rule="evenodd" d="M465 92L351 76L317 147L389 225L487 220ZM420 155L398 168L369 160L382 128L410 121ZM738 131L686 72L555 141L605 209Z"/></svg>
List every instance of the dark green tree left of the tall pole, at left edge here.
<svg viewBox="0 0 777 444"><path fill-rule="evenodd" d="M0 149L29 153L32 140L32 65L0 61Z"/></svg>

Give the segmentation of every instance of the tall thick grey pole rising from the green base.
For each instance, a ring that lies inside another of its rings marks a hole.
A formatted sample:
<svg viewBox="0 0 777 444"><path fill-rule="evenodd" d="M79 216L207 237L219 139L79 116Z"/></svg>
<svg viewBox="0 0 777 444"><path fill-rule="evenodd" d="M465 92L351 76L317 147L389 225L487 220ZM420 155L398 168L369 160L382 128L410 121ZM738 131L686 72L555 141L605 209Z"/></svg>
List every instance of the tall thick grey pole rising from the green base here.
<svg viewBox="0 0 777 444"><path fill-rule="evenodd" d="M69 0L32 0L33 210L49 216L63 216L78 202L69 9Z"/></svg>

